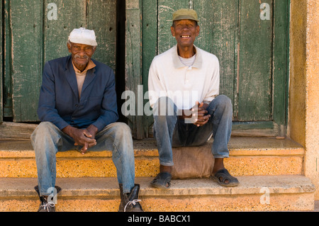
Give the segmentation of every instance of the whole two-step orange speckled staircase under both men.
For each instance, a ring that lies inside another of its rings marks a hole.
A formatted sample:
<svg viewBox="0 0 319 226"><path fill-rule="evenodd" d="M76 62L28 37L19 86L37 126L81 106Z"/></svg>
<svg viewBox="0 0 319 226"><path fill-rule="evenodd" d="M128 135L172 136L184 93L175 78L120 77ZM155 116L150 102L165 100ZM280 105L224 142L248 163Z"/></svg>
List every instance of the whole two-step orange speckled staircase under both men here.
<svg viewBox="0 0 319 226"><path fill-rule="evenodd" d="M177 179L172 187L152 188L159 160L154 139L134 140L135 183L141 205L152 211L313 211L315 186L303 176L305 150L289 139L232 137L225 167L240 186L219 186L207 175ZM205 164L213 161L211 141L201 147ZM192 156L198 147L184 148ZM181 149L174 149L179 152ZM205 154L205 153L204 153ZM175 164L184 164L174 159ZM197 161L198 168L207 167ZM202 170L202 169L201 169ZM28 140L0 140L0 211L35 211L39 200L35 154ZM117 211L120 203L111 151L57 153L57 211Z"/></svg>

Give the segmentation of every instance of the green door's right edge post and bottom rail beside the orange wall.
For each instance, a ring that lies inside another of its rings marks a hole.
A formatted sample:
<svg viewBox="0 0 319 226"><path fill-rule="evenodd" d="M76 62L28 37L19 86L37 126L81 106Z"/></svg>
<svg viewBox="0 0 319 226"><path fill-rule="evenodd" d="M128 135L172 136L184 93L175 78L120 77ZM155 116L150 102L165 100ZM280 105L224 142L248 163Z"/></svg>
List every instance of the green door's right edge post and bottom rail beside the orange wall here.
<svg viewBox="0 0 319 226"><path fill-rule="evenodd" d="M290 0L274 0L272 57L272 120L233 122L232 135L286 136L289 94Z"/></svg>

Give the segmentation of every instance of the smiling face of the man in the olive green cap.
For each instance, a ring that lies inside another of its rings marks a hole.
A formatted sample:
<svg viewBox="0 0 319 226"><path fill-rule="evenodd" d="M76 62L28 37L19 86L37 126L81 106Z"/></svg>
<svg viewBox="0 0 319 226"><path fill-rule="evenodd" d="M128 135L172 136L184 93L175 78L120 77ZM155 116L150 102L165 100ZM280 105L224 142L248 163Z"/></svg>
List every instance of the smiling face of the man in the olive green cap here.
<svg viewBox="0 0 319 226"><path fill-rule="evenodd" d="M191 47L199 34L199 26L193 20L174 21L171 32L177 40L177 45Z"/></svg>

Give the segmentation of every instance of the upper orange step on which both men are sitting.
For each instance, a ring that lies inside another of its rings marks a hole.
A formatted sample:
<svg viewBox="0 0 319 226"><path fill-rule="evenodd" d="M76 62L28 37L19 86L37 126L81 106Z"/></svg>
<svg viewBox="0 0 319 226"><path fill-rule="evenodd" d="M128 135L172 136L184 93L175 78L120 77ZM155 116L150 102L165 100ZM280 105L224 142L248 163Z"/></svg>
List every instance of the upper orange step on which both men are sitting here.
<svg viewBox="0 0 319 226"><path fill-rule="evenodd" d="M201 147L174 148L176 169L173 177L181 179L184 168L187 168L185 161L197 167L192 169L193 173L194 170L200 171L195 175L188 174L189 177L209 177L213 163L211 143L212 140ZM135 176L155 176L159 169L155 140L134 140L134 148ZM230 158L225 159L225 167L234 176L303 174L305 151L292 140L232 137L229 149ZM58 178L87 176L116 176L111 151L88 152L84 155L74 150L57 153ZM0 140L0 177L37 177L35 154L29 141Z"/></svg>

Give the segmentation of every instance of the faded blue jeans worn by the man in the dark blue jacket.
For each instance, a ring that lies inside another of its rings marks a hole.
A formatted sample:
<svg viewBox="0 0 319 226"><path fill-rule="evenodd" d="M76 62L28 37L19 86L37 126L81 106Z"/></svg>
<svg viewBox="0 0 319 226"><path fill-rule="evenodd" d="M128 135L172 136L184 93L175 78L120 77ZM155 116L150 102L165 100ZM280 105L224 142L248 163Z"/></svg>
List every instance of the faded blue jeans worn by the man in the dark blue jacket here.
<svg viewBox="0 0 319 226"><path fill-rule="evenodd" d="M123 183L123 193L130 193L134 187L135 163L133 140L130 128L125 123L111 123L96 134L96 146L89 151L112 150L113 163L116 166L118 183ZM57 152L75 147L74 140L59 130L53 123L43 122L35 128L31 135L35 150L35 160L38 170L38 186L40 196L48 196L49 188L55 187Z"/></svg>

